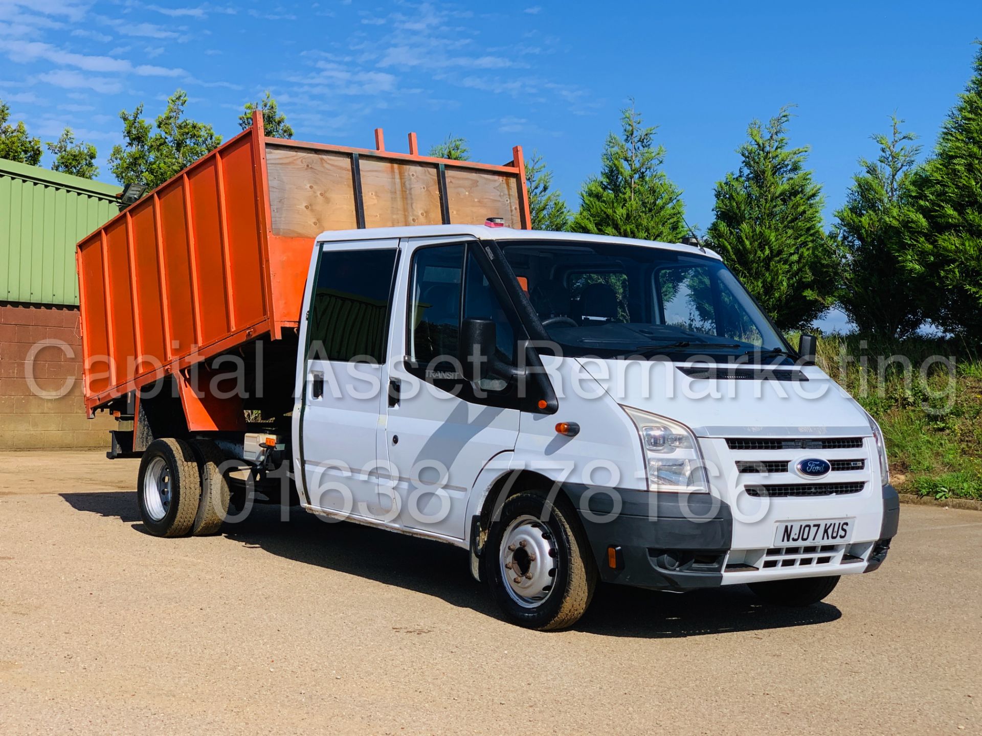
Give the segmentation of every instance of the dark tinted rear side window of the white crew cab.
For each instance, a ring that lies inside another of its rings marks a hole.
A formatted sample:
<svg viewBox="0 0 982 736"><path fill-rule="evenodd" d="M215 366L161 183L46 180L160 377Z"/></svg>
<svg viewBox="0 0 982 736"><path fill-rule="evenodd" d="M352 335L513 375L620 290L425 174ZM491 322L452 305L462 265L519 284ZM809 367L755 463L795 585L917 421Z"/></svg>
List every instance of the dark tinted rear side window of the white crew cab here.
<svg viewBox="0 0 982 736"><path fill-rule="evenodd" d="M396 250L325 250L310 308L315 359L385 362Z"/></svg>

